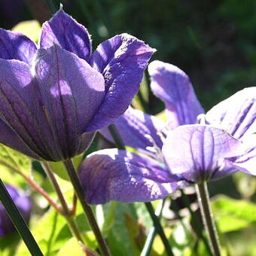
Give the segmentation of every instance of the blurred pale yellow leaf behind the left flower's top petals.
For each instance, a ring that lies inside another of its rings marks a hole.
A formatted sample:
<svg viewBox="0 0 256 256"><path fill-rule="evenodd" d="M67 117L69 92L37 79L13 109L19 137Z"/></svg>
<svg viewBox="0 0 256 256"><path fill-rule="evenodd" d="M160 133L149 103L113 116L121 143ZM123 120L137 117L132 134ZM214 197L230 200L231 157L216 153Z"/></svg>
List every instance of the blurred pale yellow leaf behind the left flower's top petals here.
<svg viewBox="0 0 256 256"><path fill-rule="evenodd" d="M23 35L26 35L32 41L37 43L41 33L41 26L37 20L25 20L18 23L11 30L14 32L23 33Z"/></svg>

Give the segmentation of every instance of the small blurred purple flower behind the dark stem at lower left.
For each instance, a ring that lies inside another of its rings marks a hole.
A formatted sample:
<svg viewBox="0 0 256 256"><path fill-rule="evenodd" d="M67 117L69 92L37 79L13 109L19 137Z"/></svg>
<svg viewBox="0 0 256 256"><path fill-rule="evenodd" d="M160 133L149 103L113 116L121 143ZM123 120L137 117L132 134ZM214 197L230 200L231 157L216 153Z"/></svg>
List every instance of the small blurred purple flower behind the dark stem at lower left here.
<svg viewBox="0 0 256 256"><path fill-rule="evenodd" d="M14 200L14 203L19 209L20 214L23 215L26 223L29 223L31 212L31 201L29 200L29 197L26 197L23 194L19 194L16 188L9 185L6 186L6 189L8 190L12 200ZM0 203L0 237L6 236L9 233L13 233L14 230L14 224L12 224L8 213L5 211L5 207L2 205L2 203Z"/></svg>

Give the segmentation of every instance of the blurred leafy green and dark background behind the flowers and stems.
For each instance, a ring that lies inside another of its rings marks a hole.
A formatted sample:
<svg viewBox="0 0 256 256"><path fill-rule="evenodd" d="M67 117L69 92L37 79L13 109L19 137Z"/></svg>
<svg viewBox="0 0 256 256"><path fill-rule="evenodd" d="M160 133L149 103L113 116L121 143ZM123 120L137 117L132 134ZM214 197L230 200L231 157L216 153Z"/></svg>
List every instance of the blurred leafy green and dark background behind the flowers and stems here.
<svg viewBox="0 0 256 256"><path fill-rule="evenodd" d="M53 4L58 6L59 2L53 1ZM157 48L153 59L171 62L183 69L190 76L206 110L237 90L256 85L256 2L253 0L66 0L62 4L68 14L87 27L92 34L94 48L120 32L135 35ZM39 20L42 23L50 17L47 5L39 0L15 0L12 3L2 0L0 8L0 27L5 29L11 29L23 20ZM36 40L38 24L29 24L27 29L24 26L21 29L29 30ZM163 104L148 93L146 82L143 88L143 97L148 102L145 110L150 114L162 111ZM93 147L96 145L93 144ZM20 154L12 155L14 159L11 159L11 151L2 146L0 151L4 181L26 189L34 200L34 217L30 226L35 239L46 255L65 255L66 251L75 247L76 241L72 239L64 218L57 216L53 209L47 212L47 202L32 192L20 175L14 175L12 168L19 166L21 172L32 173L35 180L53 195L42 169L38 163L33 163L31 167L26 157ZM69 194L69 182L65 180L62 169L59 170L59 181ZM230 254L249 256L256 251L255 190L255 178L241 173L210 184L216 221ZM193 197L190 201L193 203ZM182 209L182 203L179 208ZM139 255L151 227L144 206L139 203L109 203L97 206L95 211L113 254ZM166 213L163 217L163 225L177 255L194 255L194 248L197 248L199 255L207 254L204 245L195 242L191 228L184 228L188 223L193 227L188 215L178 219L177 215L171 218ZM40 222L38 218L41 218ZM76 218L81 223L87 245L96 248L93 233L79 215L79 208ZM47 233L44 232L45 227L49 227ZM13 255L13 245L17 241L17 236L2 239L0 254ZM21 244L18 255L26 253ZM74 256L79 253L72 251ZM163 245L157 237L152 255L163 254Z"/></svg>

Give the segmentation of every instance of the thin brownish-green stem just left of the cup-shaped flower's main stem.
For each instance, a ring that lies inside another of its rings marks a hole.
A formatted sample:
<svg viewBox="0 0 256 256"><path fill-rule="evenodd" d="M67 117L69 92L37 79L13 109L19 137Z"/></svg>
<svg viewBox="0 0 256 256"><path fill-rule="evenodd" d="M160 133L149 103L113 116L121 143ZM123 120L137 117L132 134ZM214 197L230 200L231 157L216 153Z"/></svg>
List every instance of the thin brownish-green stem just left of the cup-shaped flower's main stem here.
<svg viewBox="0 0 256 256"><path fill-rule="evenodd" d="M72 216L72 212L69 210L69 206L66 203L66 200L62 194L62 190L59 187L59 183L55 178L53 171L50 168L50 164L47 162L43 163L44 171L46 172L48 178L50 179L51 183L53 184L54 190L56 191L57 197L59 198L59 202L62 206L62 215L66 218L66 221L69 225L69 229L71 230L72 234L78 239L78 242L84 244L84 241L81 237L81 234L78 230L78 226L74 221Z"/></svg>

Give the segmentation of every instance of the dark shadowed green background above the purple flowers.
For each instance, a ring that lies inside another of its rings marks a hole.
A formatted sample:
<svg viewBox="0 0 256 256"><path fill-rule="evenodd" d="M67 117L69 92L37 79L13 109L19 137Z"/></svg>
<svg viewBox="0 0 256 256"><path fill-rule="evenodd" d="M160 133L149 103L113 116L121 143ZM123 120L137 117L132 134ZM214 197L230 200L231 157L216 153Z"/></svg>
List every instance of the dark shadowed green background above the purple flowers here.
<svg viewBox="0 0 256 256"><path fill-rule="evenodd" d="M11 29L22 20L47 20L46 2L59 6L58 0L2 0L0 26ZM254 0L63 0L62 4L92 34L94 49L121 32L157 48L153 59L187 72L206 110L256 84ZM150 104L151 114L163 108L152 95Z"/></svg>

